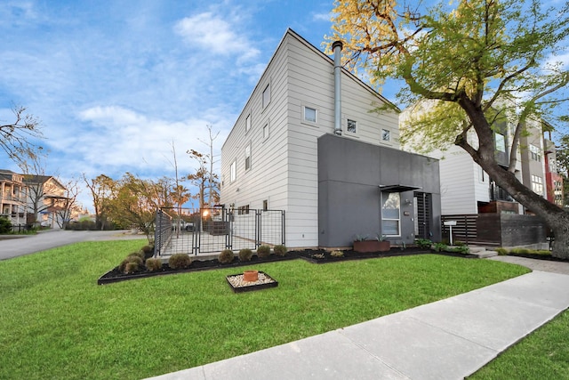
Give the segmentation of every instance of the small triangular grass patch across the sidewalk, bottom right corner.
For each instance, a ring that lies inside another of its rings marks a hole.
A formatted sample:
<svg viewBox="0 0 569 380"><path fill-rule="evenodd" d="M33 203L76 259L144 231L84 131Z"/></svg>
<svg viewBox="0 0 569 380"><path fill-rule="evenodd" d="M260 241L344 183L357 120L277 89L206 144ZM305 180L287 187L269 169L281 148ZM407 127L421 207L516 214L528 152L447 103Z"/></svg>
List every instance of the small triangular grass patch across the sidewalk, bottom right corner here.
<svg viewBox="0 0 569 380"><path fill-rule="evenodd" d="M469 380L569 379L569 311L533 331Z"/></svg>

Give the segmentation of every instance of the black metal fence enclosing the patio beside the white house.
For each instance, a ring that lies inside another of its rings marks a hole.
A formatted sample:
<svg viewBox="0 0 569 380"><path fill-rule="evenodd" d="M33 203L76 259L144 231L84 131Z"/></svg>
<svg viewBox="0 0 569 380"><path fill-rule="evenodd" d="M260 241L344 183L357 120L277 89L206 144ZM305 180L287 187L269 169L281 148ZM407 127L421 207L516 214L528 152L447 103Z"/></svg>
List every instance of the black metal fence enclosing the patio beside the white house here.
<svg viewBox="0 0 569 380"><path fill-rule="evenodd" d="M284 244L284 211L211 207L202 209L163 209L172 215L168 244L156 249L156 255L178 253L219 253L261 245ZM159 229L156 215L156 230ZM164 236L166 231L164 230ZM157 242L156 238L156 242ZM156 247L158 247L156 243ZM167 250L167 252L166 252Z"/></svg>

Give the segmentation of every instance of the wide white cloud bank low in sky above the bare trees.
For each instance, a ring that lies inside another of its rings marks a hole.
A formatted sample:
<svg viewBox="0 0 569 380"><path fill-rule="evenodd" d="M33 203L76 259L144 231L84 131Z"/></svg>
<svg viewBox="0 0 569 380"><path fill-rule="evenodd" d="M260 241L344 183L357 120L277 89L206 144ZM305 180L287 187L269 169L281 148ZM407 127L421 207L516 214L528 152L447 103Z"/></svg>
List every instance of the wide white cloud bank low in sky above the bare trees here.
<svg viewBox="0 0 569 380"><path fill-rule="evenodd" d="M84 109L79 117L91 125L91 129L58 140L65 145L59 148L73 150L84 161L91 163L92 168L112 167L120 173L130 171L134 174L168 175L173 171L173 141L180 170L189 173L194 170L195 163L188 159L186 150L205 150L206 146L200 140L208 141L206 125L210 122L201 118L167 121L118 106ZM225 126L223 129L218 127L222 124ZM213 128L214 131L220 131L216 140L218 151L220 141L227 137L227 125L227 122L218 121ZM109 172L106 174L113 175Z"/></svg>

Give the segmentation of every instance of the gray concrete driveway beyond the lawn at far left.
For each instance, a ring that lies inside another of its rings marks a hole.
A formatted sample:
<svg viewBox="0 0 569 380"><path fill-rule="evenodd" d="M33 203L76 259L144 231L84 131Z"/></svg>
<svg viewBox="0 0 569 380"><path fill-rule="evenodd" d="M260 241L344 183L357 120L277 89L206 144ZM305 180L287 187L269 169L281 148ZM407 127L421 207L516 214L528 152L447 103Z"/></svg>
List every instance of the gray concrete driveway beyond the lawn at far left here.
<svg viewBox="0 0 569 380"><path fill-rule="evenodd" d="M37 235L0 236L0 260L34 254L80 241L146 239L130 230L44 230Z"/></svg>

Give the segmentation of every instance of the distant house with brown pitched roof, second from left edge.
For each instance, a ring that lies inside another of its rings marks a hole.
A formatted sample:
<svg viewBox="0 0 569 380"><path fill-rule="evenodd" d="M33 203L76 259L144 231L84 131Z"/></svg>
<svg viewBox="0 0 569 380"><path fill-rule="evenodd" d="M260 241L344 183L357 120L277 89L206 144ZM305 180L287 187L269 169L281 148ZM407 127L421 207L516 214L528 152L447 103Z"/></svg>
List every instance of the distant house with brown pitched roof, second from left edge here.
<svg viewBox="0 0 569 380"><path fill-rule="evenodd" d="M60 211L66 206L65 186L51 175L21 174L28 187L28 222L43 226L63 226Z"/></svg>

